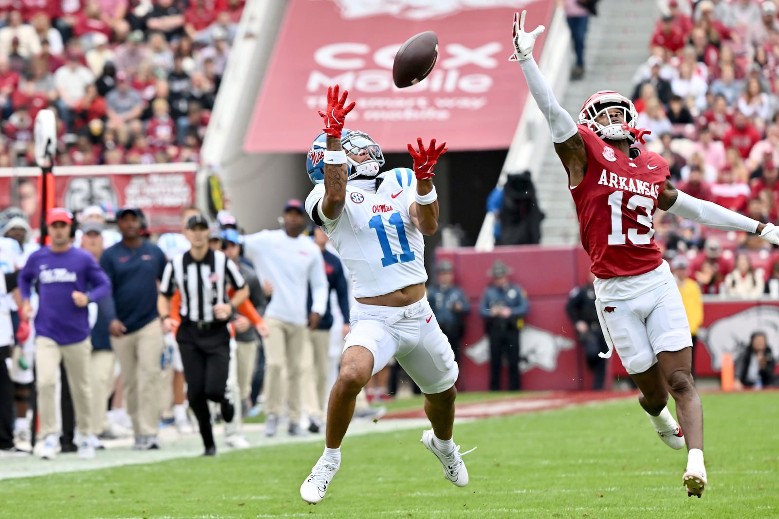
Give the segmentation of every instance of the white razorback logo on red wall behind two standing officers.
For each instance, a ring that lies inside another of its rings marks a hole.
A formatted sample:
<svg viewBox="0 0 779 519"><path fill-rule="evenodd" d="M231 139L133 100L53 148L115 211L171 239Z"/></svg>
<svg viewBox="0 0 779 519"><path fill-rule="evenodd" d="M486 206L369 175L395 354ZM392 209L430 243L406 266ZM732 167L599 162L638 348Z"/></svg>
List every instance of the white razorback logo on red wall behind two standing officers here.
<svg viewBox="0 0 779 519"><path fill-rule="evenodd" d="M552 372L557 369L557 356L562 350L573 349L576 342L551 331L525 324L520 331L520 370L534 367ZM485 336L465 350L465 354L477 364L489 362L489 339Z"/></svg>

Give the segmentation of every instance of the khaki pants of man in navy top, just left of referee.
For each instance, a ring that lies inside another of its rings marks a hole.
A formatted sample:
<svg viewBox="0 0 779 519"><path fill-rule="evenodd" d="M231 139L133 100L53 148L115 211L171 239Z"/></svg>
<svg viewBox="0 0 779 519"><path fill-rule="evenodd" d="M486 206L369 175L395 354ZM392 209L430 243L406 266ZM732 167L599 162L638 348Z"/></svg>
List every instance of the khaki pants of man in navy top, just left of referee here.
<svg viewBox="0 0 779 519"><path fill-rule="evenodd" d="M162 393L162 329L154 319L122 337L111 337L111 347L122 368L122 392L136 434L157 434Z"/></svg>

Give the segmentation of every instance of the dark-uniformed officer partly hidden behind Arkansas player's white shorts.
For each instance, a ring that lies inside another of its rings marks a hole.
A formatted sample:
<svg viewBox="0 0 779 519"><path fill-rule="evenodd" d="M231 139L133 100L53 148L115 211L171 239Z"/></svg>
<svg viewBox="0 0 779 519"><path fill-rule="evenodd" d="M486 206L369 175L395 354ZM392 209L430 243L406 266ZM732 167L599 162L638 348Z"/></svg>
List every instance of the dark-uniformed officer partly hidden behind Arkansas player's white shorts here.
<svg viewBox="0 0 779 519"><path fill-rule="evenodd" d="M594 279L594 275L590 274L590 281L586 285L571 290L566 314L576 328L576 338L584 349L587 369L593 374L592 388L601 391L606 374L606 359L601 359L597 354L608 351L608 345L601 332L601 323L597 320Z"/></svg>

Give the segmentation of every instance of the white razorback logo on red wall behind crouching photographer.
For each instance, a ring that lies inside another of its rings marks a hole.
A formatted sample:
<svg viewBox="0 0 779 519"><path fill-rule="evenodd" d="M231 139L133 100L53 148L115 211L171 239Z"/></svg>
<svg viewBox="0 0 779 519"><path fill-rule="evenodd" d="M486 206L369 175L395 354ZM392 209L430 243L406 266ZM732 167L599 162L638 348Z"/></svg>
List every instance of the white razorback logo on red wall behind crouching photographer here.
<svg viewBox="0 0 779 519"><path fill-rule="evenodd" d="M698 339L706 344L711 356L711 369L720 370L723 353L730 353L735 360L755 331L766 334L774 356L779 355L779 307L759 305L717 319L707 328L700 328Z"/></svg>

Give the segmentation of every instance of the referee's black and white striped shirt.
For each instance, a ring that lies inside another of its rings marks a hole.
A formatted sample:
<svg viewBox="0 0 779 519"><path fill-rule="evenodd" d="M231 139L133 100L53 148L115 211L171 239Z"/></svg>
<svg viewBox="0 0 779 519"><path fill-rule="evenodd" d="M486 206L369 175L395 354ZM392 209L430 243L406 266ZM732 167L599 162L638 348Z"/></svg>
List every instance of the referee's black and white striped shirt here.
<svg viewBox="0 0 779 519"><path fill-rule="evenodd" d="M227 283L236 290L244 287L241 272L222 251L208 251L202 261L189 251L176 254L162 273L160 293L171 297L176 288L182 293L182 321L215 321L213 306L228 303Z"/></svg>

